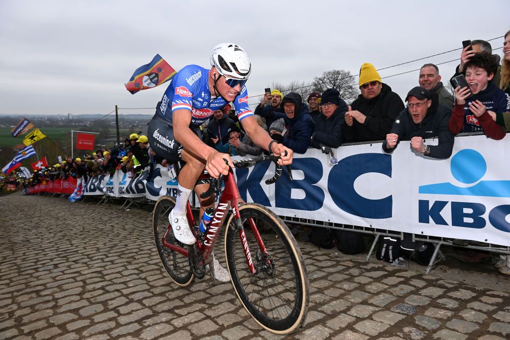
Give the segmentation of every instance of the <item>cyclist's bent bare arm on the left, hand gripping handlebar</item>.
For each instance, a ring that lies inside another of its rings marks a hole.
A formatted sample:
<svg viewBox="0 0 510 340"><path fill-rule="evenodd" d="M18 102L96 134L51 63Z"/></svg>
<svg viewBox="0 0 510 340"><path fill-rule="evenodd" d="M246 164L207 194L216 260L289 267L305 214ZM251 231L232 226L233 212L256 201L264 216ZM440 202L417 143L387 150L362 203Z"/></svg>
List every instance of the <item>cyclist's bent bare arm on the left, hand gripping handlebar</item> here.
<svg viewBox="0 0 510 340"><path fill-rule="evenodd" d="M220 173L223 175L228 174L228 166L223 159L228 161L228 164L234 166L230 156L226 153L220 153L209 145L203 143L189 128L191 123L191 111L176 110L172 114L173 120L173 134L175 140L179 142L188 153L197 156L202 161L206 162L206 170L213 177L218 177Z"/></svg>

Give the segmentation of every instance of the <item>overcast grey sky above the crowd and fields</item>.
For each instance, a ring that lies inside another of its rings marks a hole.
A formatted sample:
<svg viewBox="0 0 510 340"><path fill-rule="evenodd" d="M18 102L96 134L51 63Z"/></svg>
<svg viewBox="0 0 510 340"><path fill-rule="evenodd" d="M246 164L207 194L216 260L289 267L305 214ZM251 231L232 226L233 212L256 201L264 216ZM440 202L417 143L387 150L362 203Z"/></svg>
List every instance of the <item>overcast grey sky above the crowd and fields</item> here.
<svg viewBox="0 0 510 340"><path fill-rule="evenodd" d="M166 84L135 95L124 88L137 67L156 54L176 70L188 64L209 67L212 47L223 41L246 49L252 96L272 81L309 82L331 69L358 73L364 62L382 68L461 47L463 40L499 37L510 29L508 13L507 0L3 0L0 114L108 113L115 104L155 107ZM491 41L493 48L502 43L502 38ZM455 51L380 75L459 56ZM439 66L445 84L456 65ZM405 97L417 85L418 72L383 81Z"/></svg>

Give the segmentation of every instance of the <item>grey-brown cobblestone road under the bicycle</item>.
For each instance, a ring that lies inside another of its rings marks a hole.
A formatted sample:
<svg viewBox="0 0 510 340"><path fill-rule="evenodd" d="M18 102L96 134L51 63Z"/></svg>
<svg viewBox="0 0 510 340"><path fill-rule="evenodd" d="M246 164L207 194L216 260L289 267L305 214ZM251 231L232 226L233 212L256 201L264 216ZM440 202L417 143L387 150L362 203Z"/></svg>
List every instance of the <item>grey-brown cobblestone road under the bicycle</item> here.
<svg viewBox="0 0 510 340"><path fill-rule="evenodd" d="M293 337L510 338L507 293L301 247L311 297ZM276 338L247 316L230 283L172 284L147 211L0 198L0 339L257 337Z"/></svg>

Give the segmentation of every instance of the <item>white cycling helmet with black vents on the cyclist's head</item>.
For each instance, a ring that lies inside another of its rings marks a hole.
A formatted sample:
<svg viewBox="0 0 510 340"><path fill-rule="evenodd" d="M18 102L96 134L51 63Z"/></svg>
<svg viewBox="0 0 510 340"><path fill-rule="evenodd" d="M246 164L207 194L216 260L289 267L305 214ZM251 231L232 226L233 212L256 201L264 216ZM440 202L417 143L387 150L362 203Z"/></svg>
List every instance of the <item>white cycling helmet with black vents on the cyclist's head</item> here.
<svg viewBox="0 0 510 340"><path fill-rule="evenodd" d="M227 80L234 78L246 81L251 72L251 63L244 49L230 42L214 46L211 66L216 67Z"/></svg>

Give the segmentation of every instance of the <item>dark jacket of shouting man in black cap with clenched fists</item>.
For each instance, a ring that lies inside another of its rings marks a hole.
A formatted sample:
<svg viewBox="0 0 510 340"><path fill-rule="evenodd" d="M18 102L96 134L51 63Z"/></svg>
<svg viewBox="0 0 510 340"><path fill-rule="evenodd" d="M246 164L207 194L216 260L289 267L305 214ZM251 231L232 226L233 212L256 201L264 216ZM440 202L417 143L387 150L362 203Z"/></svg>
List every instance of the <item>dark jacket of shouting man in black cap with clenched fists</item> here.
<svg viewBox="0 0 510 340"><path fill-rule="evenodd" d="M432 104L427 110L427 114L423 121L415 124L413 118L409 114L409 110L404 109L398 115L391 128L391 134L398 135L398 141L410 141L413 137L422 137L423 139L432 139L438 137L438 145L430 145L431 158L447 159L451 156L453 149L453 134L448 128L448 122L451 117L451 110L439 105L439 98L437 93L432 93ZM382 150L387 153L392 153L398 146L397 145L388 149L386 147L386 140L382 142Z"/></svg>

